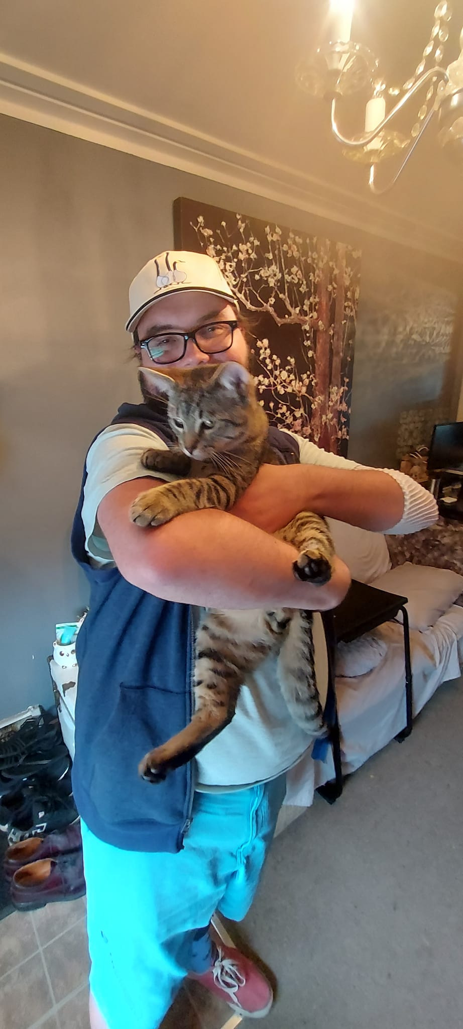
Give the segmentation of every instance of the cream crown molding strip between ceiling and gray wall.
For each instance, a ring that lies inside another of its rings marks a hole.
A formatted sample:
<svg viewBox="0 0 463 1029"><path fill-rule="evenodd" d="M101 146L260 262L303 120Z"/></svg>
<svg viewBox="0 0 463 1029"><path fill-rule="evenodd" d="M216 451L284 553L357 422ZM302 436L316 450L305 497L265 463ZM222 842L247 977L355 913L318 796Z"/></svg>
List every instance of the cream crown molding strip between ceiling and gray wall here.
<svg viewBox="0 0 463 1029"><path fill-rule="evenodd" d="M1 52L0 113L463 262L457 236Z"/></svg>

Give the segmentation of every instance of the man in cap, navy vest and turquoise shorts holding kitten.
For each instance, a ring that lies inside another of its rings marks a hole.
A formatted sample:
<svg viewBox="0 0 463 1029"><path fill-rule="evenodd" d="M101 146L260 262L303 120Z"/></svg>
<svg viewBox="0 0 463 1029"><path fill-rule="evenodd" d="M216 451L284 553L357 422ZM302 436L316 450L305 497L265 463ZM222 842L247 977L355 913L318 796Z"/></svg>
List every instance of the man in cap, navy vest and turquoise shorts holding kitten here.
<svg viewBox="0 0 463 1029"><path fill-rule="evenodd" d="M211 324L220 329L208 332ZM131 285L127 328L147 367L248 362L245 319L205 254L167 252L148 261ZM335 607L350 583L344 562L334 559L324 587L296 581L294 548L271 535L300 510L398 533L436 517L430 494L400 472L365 469L272 432L285 465L262 466L230 512L190 512L159 528L140 529L129 510L153 478L163 482L140 457L172 442L165 407L123 404L87 454L72 540L92 586L77 638L73 788L87 887L92 1029L155 1029L186 973L241 1015L262 1017L272 1004L266 979L210 921L216 910L245 916L285 772L308 749L281 698L274 659L247 678L235 718L194 762L158 785L137 775L141 756L190 717L199 610ZM314 639L323 695L318 613Z"/></svg>

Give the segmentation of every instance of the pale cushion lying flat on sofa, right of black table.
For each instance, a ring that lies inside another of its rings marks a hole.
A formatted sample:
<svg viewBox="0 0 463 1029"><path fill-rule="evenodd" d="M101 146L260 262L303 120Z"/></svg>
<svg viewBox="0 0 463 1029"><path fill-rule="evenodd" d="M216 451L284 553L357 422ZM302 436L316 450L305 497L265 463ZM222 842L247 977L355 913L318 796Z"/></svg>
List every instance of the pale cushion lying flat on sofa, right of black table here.
<svg viewBox="0 0 463 1029"><path fill-rule="evenodd" d="M370 583L378 590L407 597L406 610L411 629L426 632L449 610L463 591L463 575L448 568L428 565L404 565L391 568ZM402 620L399 612L398 619Z"/></svg>

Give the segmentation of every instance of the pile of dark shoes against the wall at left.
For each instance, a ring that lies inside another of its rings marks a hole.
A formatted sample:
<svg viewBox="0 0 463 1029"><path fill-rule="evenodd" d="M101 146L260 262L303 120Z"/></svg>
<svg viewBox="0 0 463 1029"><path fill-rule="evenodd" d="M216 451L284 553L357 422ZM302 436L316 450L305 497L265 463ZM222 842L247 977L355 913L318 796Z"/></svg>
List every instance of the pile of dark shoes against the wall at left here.
<svg viewBox="0 0 463 1029"><path fill-rule="evenodd" d="M10 844L3 872L17 910L85 892L70 772L59 720L43 708L0 740L0 830Z"/></svg>

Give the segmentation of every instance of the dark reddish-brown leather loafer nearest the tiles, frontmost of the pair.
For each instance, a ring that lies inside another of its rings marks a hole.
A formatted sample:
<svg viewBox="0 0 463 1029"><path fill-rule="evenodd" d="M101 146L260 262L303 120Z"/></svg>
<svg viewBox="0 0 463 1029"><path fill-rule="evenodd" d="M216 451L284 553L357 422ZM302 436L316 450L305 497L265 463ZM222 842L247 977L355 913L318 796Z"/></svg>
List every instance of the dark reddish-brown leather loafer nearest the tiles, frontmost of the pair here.
<svg viewBox="0 0 463 1029"><path fill-rule="evenodd" d="M11 901L17 911L36 911L56 900L76 900L85 892L81 850L32 861L14 873Z"/></svg>

